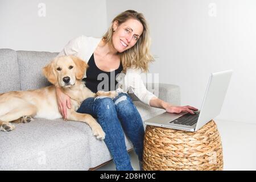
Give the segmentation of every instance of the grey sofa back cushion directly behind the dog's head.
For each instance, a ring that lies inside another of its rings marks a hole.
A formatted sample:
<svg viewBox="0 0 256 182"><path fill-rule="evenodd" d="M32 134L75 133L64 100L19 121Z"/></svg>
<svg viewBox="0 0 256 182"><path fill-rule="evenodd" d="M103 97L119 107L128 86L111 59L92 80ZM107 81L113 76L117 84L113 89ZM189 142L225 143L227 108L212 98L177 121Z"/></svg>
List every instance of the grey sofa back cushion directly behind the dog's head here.
<svg viewBox="0 0 256 182"><path fill-rule="evenodd" d="M21 89L39 89L50 85L43 75L42 68L57 54L57 52L17 51Z"/></svg>

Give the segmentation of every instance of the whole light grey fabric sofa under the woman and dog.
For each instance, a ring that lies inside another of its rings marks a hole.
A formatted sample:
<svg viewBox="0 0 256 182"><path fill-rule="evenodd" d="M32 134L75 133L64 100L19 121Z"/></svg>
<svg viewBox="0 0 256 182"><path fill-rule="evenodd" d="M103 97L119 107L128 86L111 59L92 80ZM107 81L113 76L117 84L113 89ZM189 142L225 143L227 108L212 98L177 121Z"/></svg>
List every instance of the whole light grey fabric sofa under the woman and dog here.
<svg viewBox="0 0 256 182"><path fill-rule="evenodd" d="M42 68L56 55L56 52L0 49L0 93L49 85ZM160 84L159 98L179 105L179 86ZM142 104L134 96L133 100L143 121L164 112ZM14 131L0 131L0 171L89 170L112 160L104 141L93 137L85 123L35 119L15 125ZM133 149L127 138L126 146L127 150Z"/></svg>

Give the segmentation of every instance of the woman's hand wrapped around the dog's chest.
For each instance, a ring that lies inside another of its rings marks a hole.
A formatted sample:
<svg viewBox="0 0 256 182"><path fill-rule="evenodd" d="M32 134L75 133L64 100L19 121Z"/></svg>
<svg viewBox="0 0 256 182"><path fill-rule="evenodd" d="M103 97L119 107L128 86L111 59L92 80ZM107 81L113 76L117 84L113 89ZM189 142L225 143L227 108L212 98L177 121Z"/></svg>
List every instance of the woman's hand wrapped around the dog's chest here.
<svg viewBox="0 0 256 182"><path fill-rule="evenodd" d="M62 117L67 120L67 107L71 109L70 97L63 93L60 88L56 87L57 104Z"/></svg>

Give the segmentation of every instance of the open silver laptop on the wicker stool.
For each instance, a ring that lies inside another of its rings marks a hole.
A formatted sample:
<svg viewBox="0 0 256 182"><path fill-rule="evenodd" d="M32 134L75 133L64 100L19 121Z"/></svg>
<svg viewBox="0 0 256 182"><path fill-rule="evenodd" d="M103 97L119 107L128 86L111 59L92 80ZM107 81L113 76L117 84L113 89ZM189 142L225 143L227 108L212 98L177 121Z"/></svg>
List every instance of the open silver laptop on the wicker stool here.
<svg viewBox="0 0 256 182"><path fill-rule="evenodd" d="M170 129L197 131L220 114L233 71L212 73L200 111L190 113L163 113L144 121L146 125L167 127Z"/></svg>

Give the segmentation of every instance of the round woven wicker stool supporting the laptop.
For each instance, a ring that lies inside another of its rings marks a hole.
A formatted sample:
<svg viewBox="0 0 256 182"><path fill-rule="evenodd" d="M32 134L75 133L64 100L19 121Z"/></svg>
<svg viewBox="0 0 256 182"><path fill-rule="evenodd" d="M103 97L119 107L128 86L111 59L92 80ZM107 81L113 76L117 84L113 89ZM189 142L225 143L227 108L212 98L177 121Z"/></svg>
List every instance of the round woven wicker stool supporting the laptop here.
<svg viewBox="0 0 256 182"><path fill-rule="evenodd" d="M196 132L147 125L143 169L222 170L222 144L215 122Z"/></svg>

